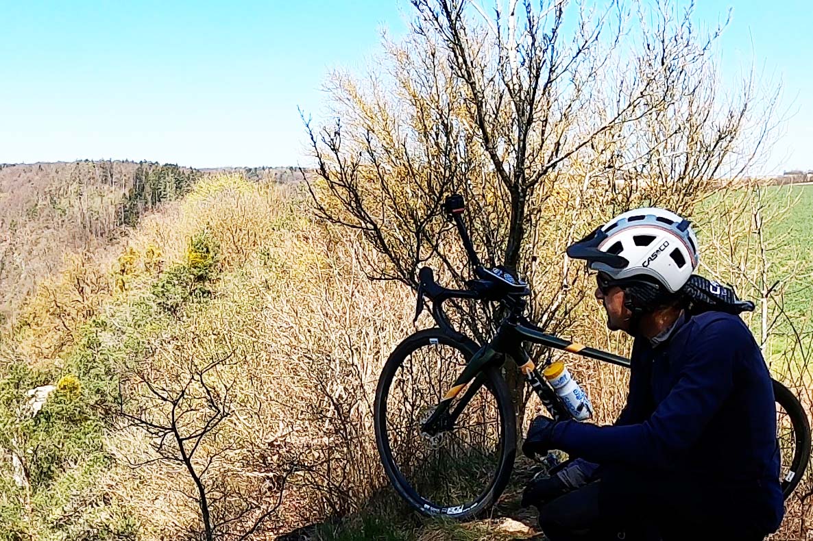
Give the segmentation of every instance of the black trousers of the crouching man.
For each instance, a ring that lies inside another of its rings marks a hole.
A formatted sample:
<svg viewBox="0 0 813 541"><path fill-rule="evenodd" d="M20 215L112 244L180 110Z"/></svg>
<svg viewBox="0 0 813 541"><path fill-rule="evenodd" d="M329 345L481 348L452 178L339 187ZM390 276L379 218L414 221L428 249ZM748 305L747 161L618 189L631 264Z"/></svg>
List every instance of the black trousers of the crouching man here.
<svg viewBox="0 0 813 541"><path fill-rule="evenodd" d="M634 470L603 470L598 481L539 508L550 541L761 541L748 513L702 480Z"/></svg>

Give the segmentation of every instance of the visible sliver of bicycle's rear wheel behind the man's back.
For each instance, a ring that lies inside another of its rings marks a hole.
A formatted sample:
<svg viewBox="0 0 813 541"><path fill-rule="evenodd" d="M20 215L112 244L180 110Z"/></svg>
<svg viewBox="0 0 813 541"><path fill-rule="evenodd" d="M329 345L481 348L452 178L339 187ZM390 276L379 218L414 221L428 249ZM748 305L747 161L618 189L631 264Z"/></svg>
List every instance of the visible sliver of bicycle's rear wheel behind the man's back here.
<svg viewBox="0 0 813 541"><path fill-rule="evenodd" d="M773 382L776 399L776 439L782 458L780 481L785 500L802 481L811 456L811 427L798 398L778 381Z"/></svg>

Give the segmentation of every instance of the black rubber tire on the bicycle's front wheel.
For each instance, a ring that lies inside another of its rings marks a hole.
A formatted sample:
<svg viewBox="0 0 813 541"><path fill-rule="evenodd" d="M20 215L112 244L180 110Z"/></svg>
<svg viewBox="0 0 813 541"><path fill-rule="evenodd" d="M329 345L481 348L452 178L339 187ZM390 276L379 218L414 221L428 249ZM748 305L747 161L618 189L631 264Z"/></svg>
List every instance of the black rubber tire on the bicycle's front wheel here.
<svg viewBox="0 0 813 541"><path fill-rule="evenodd" d="M495 367L486 368L485 383L482 387L485 387L486 392L489 392L493 399L496 400L496 410L499 414L500 435L498 437L498 458L494 475L474 499L463 503L450 502L450 504L446 504L446 502L436 502L422 496L406 479L398 465L398 461L393 457L393 449L390 445L387 428L387 413L389 394L393 379L395 379L399 368L402 367L407 358L411 358L413 353L420 350L420 348L437 346L438 344L457 350L465 361L469 361L478 348L477 344L472 340L453 340L439 328L418 331L398 344L398 347L393 350L393 353L390 354L386 361L376 387L374 405L376 446L389 482L398 492L398 496L401 496L413 509L429 517L466 520L476 517L489 509L502 495L502 491L505 490L511 478L516 453L514 409L502 374ZM479 393L480 390L478 389L477 392ZM437 396L437 400L440 400L440 396ZM463 410L462 417L465 417L467 413L469 413L469 406ZM416 435L420 434L417 429L418 422L418 419L411 420L411 428L415 430Z"/></svg>

